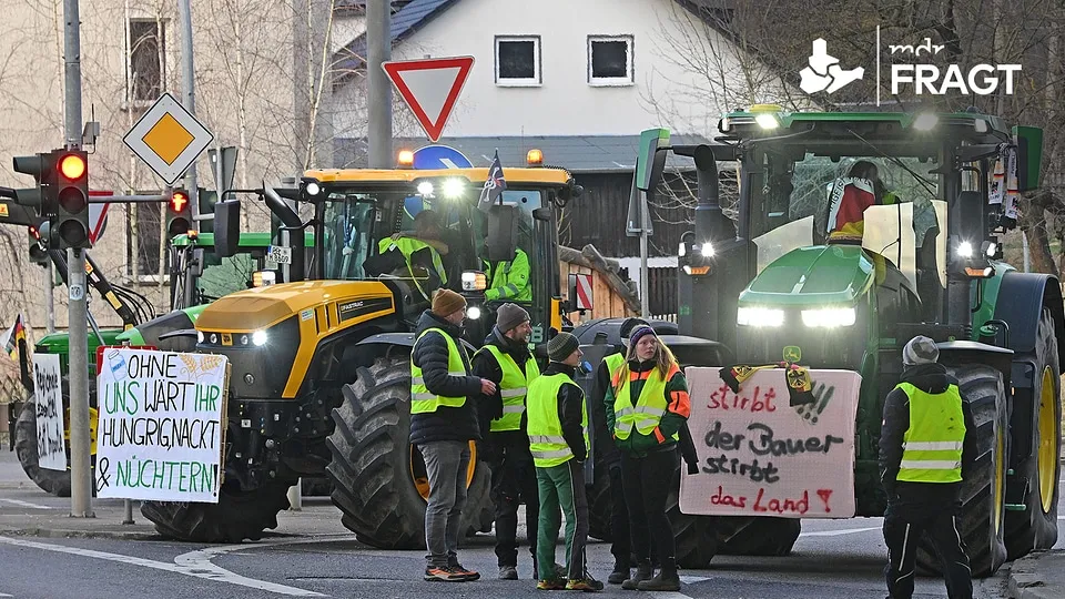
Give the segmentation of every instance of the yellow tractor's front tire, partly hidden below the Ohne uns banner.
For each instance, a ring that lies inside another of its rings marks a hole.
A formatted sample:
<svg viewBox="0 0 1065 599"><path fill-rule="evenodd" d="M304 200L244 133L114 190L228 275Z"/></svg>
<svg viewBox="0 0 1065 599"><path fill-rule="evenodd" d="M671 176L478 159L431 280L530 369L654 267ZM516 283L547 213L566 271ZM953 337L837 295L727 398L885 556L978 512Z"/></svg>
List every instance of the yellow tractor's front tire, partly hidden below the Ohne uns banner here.
<svg viewBox="0 0 1065 599"><path fill-rule="evenodd" d="M277 514L288 509L288 488L295 480L272 480L241 491L224 483L217 504L143 501L141 514L164 537L193 542L258 540L267 528L277 528Z"/></svg>

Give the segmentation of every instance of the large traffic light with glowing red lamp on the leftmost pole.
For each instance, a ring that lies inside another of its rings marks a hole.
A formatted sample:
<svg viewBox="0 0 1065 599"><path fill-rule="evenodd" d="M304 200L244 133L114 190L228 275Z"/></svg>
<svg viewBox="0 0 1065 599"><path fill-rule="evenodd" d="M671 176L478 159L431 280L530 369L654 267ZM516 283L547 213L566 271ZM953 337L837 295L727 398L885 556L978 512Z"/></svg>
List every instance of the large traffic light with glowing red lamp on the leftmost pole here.
<svg viewBox="0 0 1065 599"><path fill-rule="evenodd" d="M88 248L89 243L89 154L83 150L57 150L54 197L55 224L52 240L59 250ZM48 202L50 203L50 202Z"/></svg>

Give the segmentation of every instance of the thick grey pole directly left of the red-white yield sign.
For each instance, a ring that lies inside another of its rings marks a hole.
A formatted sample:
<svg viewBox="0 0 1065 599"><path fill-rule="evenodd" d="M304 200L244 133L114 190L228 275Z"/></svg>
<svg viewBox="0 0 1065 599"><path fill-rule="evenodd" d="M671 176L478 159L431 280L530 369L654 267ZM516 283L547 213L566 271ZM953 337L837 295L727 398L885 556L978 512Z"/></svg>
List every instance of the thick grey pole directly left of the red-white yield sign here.
<svg viewBox="0 0 1065 599"><path fill-rule="evenodd" d="M369 72L369 167L390 169L392 155L392 82L381 68L392 58L392 2L366 2L366 70Z"/></svg>

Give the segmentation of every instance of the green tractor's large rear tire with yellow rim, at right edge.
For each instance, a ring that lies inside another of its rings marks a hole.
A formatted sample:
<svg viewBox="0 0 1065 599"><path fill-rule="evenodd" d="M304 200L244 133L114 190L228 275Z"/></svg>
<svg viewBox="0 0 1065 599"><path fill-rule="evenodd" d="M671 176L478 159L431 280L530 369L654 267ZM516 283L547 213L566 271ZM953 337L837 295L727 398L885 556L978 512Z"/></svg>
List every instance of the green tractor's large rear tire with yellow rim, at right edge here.
<svg viewBox="0 0 1065 599"><path fill-rule="evenodd" d="M1044 309L1035 339L1035 410L1031 438L1013 438L1015 450L1031 454L1017 467L1027 480L1024 511L1006 511L1006 551L1011 560L1057 542L1057 498L1061 477L1062 366L1057 355L1054 316ZM1027 427L1025 427L1027 428Z"/></svg>

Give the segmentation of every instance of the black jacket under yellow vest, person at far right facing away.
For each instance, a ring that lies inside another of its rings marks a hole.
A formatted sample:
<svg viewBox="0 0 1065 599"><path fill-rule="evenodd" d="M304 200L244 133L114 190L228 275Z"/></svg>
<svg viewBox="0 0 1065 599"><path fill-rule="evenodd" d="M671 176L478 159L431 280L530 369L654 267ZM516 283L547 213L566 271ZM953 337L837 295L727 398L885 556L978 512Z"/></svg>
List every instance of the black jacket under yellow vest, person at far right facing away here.
<svg viewBox="0 0 1065 599"><path fill-rule="evenodd" d="M907 368L902 373L901 383L910 383L914 387L929 393L944 393L950 385L957 385L957 380L946 374L941 364L922 364ZM962 395L962 415L965 420L965 441L962 445L962 478L968 474L968 465L976 459L976 425L973 422L972 407L968 399ZM910 397L902 389L895 388L888 394L884 400L884 422L880 432L880 478L888 491L890 500L956 500L961 491L961 483L900 483L899 465L902 461L903 436L910 429Z"/></svg>

